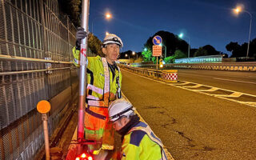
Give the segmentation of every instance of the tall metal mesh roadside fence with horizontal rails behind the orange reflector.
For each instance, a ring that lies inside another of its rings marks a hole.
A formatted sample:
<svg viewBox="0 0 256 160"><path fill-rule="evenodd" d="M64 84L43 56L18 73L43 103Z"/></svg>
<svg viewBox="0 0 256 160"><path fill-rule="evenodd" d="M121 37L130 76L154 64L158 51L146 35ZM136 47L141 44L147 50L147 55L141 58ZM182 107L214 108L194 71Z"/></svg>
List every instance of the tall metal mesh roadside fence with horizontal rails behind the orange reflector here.
<svg viewBox="0 0 256 160"><path fill-rule="evenodd" d="M76 29L58 0L0 0L0 15L0 159L33 159L43 144L36 104L50 101L52 134L78 98Z"/></svg>

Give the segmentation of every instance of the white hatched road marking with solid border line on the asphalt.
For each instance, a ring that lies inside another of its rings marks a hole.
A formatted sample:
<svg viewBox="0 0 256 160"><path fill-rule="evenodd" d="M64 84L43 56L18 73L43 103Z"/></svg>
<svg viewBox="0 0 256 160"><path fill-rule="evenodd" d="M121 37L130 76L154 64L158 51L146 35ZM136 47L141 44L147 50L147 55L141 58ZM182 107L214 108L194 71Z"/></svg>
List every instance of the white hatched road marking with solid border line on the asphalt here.
<svg viewBox="0 0 256 160"><path fill-rule="evenodd" d="M127 72L129 72L130 74L134 74L133 72L131 72L130 70L126 70ZM175 87L178 87L178 88L181 88L181 89L184 89L184 90L190 90L190 91L194 91L194 92L197 92L199 94L206 94L206 95L210 95L210 96L213 96L215 98L222 98L222 99L226 99L226 100L229 100L229 101L232 101L232 102L238 102L238 103L241 103L241 104L244 104L244 105L247 105L247 106L253 106L253 107L256 107L256 102L243 102L243 101L238 101L238 100L235 100L235 99L231 99L231 98L228 98L229 95L231 94L226 94L226 96L222 97L222 96L219 96L220 94L208 94L207 92L208 91L215 91L215 90L226 90L226 89L222 89L222 88L217 88L217 87L214 87L214 86L208 86L210 87L210 90L191 90L189 88L186 88L184 86L178 86L178 84L172 84L172 83L168 83L168 82L162 82L162 81L158 81L158 80L155 80L155 79L152 79L152 78L147 78L145 76L142 76L142 75L139 75L139 74L134 74L134 75L137 75L139 77L142 77L142 78L146 78L146 79L149 79L151 81L154 81L154 82L161 82L161 83L165 83L166 85L169 85L169 86L175 86ZM193 84L198 84L198 83L195 83L195 82L186 82L186 84L188 83L193 83ZM183 83L184 84L184 83ZM203 86L206 86L206 85L203 85ZM202 92L203 91L203 92ZM207 91L207 92L205 92ZM245 94L245 93L241 93L241 92L236 92L236 91L233 91L233 90L226 90L226 91L229 91L229 92L233 92L232 94L236 93L236 94L243 94L243 95L248 95L248 96L251 96L251 97L255 97L256 98L256 95L253 95L253 94ZM223 95L223 94L222 94Z"/></svg>

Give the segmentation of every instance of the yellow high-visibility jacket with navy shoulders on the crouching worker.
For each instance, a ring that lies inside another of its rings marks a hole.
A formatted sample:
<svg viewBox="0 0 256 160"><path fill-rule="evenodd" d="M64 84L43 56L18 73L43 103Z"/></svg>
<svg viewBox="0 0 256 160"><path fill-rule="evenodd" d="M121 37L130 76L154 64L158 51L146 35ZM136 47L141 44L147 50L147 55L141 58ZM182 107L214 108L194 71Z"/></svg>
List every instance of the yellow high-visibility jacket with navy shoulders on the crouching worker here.
<svg viewBox="0 0 256 160"><path fill-rule="evenodd" d="M166 160L161 140L145 122L128 131L122 141L122 160Z"/></svg>

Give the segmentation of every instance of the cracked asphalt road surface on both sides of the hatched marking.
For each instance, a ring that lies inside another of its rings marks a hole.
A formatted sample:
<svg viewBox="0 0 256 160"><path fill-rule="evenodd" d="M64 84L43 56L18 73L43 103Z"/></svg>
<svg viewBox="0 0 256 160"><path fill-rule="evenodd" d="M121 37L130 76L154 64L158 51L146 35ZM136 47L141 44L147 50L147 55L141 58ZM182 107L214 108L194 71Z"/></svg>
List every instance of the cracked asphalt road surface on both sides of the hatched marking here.
<svg viewBox="0 0 256 160"><path fill-rule="evenodd" d="M256 95L255 75L178 70L181 81L251 95ZM122 92L174 159L256 159L254 106L153 81L127 70L122 70ZM254 100L250 97L250 101Z"/></svg>

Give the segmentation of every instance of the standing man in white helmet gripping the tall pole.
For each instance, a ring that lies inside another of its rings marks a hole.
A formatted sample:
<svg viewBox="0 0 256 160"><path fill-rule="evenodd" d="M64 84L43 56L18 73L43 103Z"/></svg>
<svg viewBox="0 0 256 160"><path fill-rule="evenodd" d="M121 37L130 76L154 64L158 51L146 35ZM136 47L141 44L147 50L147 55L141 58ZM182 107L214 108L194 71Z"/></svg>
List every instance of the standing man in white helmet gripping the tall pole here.
<svg viewBox="0 0 256 160"><path fill-rule="evenodd" d="M75 66L79 66L80 44L85 37L86 32L78 28L77 42L73 49ZM98 142L98 145L89 146L92 151L114 149L114 129L109 122L108 107L110 102L122 97L122 74L115 63L122 46L121 38L107 34L102 42L105 58L88 57L86 61L85 138Z"/></svg>

